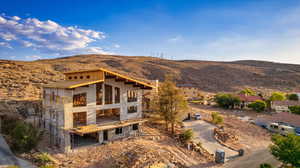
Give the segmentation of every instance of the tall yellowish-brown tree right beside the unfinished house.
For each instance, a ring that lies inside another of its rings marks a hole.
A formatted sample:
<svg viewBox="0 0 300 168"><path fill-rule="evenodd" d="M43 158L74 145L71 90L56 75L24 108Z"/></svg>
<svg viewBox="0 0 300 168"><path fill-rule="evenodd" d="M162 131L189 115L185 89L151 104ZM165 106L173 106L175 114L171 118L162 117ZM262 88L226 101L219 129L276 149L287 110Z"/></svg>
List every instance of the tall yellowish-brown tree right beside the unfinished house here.
<svg viewBox="0 0 300 168"><path fill-rule="evenodd" d="M166 75L165 81L160 84L152 106L164 119L167 130L171 124L172 134L174 134L175 124L182 122L188 109L184 95L176 87L173 77L170 75Z"/></svg>

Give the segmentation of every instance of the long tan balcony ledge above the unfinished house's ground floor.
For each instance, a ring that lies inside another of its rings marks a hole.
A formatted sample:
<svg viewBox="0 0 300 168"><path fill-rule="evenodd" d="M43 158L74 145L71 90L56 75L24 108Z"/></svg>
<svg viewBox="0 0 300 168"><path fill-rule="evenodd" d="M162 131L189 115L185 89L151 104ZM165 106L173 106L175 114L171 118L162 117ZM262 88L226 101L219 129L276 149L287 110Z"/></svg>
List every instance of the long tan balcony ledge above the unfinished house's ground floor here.
<svg viewBox="0 0 300 168"><path fill-rule="evenodd" d="M125 126L129 126L132 124L143 123L146 121L147 121L146 119L135 119L135 120L120 121L119 123L114 122L112 124L107 124L107 125L91 124L91 125L87 125L87 126L72 128L72 129L70 129L70 132L73 132L75 134L82 136L84 134L89 134L89 133L108 130L108 129L115 129L115 128L119 128L119 127L125 127Z"/></svg>

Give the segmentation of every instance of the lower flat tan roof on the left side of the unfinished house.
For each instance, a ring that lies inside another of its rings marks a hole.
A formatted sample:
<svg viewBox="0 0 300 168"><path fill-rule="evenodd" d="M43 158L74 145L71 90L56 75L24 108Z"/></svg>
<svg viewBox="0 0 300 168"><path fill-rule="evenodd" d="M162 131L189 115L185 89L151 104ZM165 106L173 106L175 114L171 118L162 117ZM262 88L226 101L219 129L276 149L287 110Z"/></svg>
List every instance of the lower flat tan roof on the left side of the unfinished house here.
<svg viewBox="0 0 300 168"><path fill-rule="evenodd" d="M80 86L86 86L91 85L99 82L103 82L104 80L79 80L79 81L58 81L54 83L49 83L46 85L43 85L43 87L46 88L60 88L60 89L73 89Z"/></svg>

